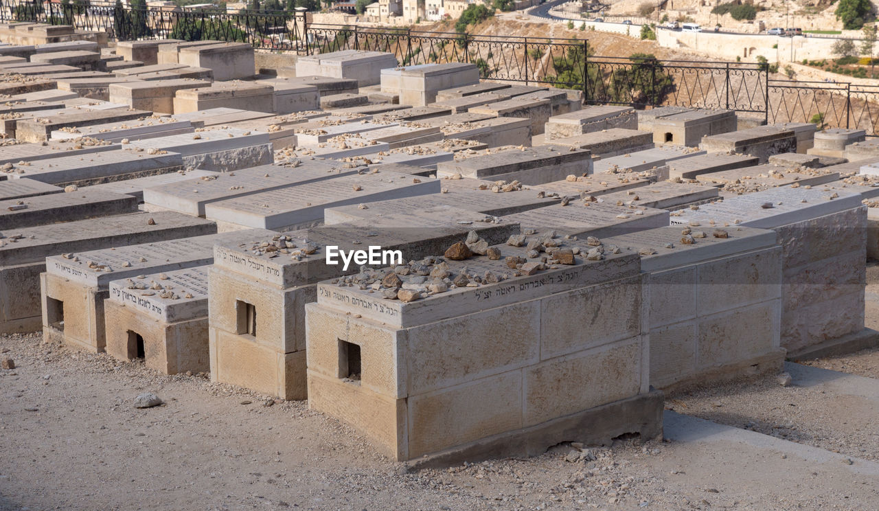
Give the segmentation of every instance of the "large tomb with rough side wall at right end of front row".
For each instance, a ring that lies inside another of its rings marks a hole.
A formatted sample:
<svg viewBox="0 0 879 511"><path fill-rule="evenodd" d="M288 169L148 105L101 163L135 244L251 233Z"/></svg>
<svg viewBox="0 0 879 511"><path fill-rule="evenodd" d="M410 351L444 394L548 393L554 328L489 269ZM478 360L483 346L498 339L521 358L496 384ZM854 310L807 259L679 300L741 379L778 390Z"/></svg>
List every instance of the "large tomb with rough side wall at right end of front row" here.
<svg viewBox="0 0 879 511"><path fill-rule="evenodd" d="M680 210L672 223L774 230L784 248L781 347L788 357L821 347L860 349L867 208L859 193L784 186Z"/></svg>

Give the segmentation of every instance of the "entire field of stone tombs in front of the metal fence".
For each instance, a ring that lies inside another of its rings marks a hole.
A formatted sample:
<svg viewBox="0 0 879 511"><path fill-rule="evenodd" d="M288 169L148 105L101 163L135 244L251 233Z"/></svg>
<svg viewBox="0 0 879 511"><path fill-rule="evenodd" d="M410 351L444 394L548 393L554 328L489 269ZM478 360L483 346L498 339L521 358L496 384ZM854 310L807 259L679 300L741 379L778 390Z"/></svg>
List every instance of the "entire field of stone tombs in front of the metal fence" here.
<svg viewBox="0 0 879 511"><path fill-rule="evenodd" d="M308 399L413 464L653 438L666 392L876 343L862 130L379 52L267 77L236 43L17 42L0 332Z"/></svg>

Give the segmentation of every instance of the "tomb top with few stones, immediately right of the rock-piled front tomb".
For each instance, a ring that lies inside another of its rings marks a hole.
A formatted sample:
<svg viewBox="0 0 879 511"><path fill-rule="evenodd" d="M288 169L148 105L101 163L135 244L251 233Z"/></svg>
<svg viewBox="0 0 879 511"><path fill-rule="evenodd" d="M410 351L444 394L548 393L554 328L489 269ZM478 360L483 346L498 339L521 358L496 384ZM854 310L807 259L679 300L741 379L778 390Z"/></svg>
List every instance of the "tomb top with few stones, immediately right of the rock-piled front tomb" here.
<svg viewBox="0 0 879 511"><path fill-rule="evenodd" d="M752 227L734 226L715 229L706 226L694 227L692 230L701 230L705 232L706 237L694 238L693 245L685 245L680 242L683 237L681 226L671 226L606 237L601 239L601 243L605 247L616 245L623 250L640 252L642 271L657 272L771 247L775 245L776 238L774 230ZM725 234L727 237L716 237L716 231L718 236Z"/></svg>

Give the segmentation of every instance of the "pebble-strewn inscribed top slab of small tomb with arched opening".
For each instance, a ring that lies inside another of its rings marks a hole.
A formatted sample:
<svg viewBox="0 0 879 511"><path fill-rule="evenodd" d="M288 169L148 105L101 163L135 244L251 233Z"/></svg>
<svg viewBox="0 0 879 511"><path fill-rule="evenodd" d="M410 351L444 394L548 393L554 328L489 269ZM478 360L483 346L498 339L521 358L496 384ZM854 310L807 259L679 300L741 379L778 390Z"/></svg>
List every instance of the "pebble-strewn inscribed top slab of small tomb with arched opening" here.
<svg viewBox="0 0 879 511"><path fill-rule="evenodd" d="M164 323L207 316L207 269L194 266L112 281L110 299Z"/></svg>

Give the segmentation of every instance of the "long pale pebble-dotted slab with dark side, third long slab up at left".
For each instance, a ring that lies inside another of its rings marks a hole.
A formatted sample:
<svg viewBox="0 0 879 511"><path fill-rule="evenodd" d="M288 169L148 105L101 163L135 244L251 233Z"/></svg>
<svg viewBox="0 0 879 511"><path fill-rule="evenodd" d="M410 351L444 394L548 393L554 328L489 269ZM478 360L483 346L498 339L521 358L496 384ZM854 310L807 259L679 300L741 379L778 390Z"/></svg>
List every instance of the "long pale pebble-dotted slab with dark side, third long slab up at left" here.
<svg viewBox="0 0 879 511"><path fill-rule="evenodd" d="M41 159L14 165L8 172L12 179L28 178L57 186L88 186L178 172L183 164L178 153L149 154L126 149Z"/></svg>

